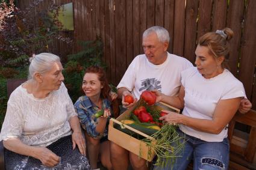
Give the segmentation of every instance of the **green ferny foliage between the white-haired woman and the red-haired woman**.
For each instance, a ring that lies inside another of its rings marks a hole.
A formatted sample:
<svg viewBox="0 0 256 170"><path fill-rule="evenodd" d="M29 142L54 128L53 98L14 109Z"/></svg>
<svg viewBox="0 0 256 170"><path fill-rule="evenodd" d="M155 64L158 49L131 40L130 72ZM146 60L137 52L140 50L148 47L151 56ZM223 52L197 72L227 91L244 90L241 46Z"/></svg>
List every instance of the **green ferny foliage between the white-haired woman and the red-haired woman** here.
<svg viewBox="0 0 256 170"><path fill-rule="evenodd" d="M102 41L100 38L95 41L81 41L80 45L83 49L67 57L68 61L64 64L63 71L64 82L73 102L76 102L78 97L84 95L81 87L86 68L92 65L105 67L101 59Z"/></svg>

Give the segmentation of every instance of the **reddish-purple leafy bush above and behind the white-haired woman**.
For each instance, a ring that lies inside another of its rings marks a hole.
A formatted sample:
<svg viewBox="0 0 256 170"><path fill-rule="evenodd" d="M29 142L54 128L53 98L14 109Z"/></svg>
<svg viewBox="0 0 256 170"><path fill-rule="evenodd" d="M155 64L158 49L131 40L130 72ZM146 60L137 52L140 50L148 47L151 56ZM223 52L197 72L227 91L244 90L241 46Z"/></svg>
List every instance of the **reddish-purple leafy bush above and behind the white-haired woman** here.
<svg viewBox="0 0 256 170"><path fill-rule="evenodd" d="M33 53L51 52L48 46L54 39L73 43L58 29L63 26L58 20L60 6L49 1L48 9L39 10L42 2L33 0L25 10L20 10L13 0L0 1L0 65L28 65L28 58ZM52 17L49 17L49 12Z"/></svg>

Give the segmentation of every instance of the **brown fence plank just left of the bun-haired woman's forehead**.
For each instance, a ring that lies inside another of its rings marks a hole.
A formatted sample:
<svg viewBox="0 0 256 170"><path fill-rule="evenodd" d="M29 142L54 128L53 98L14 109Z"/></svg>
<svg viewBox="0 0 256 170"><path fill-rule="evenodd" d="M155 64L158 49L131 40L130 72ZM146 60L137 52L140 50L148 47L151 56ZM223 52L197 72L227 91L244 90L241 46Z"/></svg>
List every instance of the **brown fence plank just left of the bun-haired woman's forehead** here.
<svg viewBox="0 0 256 170"><path fill-rule="evenodd" d="M196 20L198 19L198 1L187 1L184 57L195 62Z"/></svg>

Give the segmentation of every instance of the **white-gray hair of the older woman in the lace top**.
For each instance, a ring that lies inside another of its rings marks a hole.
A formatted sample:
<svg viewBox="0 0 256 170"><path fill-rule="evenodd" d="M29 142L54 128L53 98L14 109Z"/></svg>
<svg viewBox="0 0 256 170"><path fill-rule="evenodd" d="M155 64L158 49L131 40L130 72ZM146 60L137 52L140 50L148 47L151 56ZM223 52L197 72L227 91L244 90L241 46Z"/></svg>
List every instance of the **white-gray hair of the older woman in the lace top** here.
<svg viewBox="0 0 256 170"><path fill-rule="evenodd" d="M52 53L40 53L30 58L30 67L28 69L28 79L34 77L34 73L45 73L52 68L52 63L60 62L60 58Z"/></svg>

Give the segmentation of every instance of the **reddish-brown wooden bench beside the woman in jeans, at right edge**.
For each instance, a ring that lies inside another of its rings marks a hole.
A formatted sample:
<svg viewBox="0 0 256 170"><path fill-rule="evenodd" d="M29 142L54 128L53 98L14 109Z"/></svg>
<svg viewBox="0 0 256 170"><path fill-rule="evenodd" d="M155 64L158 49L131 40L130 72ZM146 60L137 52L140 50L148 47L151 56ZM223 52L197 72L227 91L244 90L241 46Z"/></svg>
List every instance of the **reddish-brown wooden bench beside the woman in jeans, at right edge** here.
<svg viewBox="0 0 256 170"><path fill-rule="evenodd" d="M236 123L249 126L249 133L234 129ZM229 123L229 169L256 169L256 111L237 113Z"/></svg>

